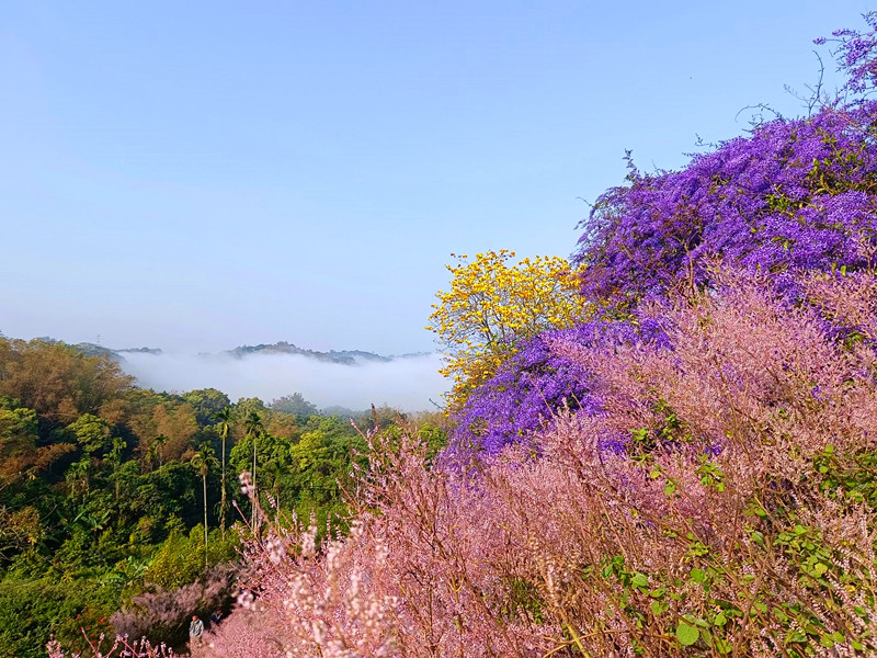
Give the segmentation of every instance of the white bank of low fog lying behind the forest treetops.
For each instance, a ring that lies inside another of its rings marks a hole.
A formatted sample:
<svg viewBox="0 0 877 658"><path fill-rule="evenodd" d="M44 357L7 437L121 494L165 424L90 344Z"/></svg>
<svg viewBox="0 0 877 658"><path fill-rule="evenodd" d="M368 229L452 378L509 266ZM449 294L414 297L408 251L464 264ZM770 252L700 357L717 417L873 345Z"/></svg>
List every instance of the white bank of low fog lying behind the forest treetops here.
<svg viewBox="0 0 877 658"><path fill-rule="evenodd" d="M438 374L440 354L365 362L357 365L326 363L297 354L184 355L125 353L123 370L140 386L184 393L218 388L237 401L259 397L265 404L300 393L318 408L340 405L367 409L389 405L403 411L435 409L446 381Z"/></svg>

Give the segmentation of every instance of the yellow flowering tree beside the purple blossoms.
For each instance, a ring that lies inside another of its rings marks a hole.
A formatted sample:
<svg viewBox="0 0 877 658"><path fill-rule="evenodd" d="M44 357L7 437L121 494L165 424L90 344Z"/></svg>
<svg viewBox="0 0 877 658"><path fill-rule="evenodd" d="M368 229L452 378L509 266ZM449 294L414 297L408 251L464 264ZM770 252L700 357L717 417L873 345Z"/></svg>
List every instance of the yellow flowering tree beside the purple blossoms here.
<svg viewBox="0 0 877 658"><path fill-rule="evenodd" d="M431 325L445 351L440 371L453 377L451 409L459 408L469 392L497 372L522 339L546 329L562 329L585 313L579 280L562 258L525 258L516 264L514 251L501 249L467 256L451 254L451 291L438 291Z"/></svg>

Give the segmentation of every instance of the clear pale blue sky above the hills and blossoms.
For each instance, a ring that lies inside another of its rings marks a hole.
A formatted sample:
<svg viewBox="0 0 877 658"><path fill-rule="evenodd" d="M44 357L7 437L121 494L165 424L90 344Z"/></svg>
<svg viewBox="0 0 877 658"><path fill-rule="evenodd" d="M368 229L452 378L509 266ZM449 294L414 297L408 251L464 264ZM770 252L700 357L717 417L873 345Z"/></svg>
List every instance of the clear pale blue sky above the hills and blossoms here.
<svg viewBox="0 0 877 658"><path fill-rule="evenodd" d="M569 256L626 148L797 114L867 9L5 0L0 331L430 350L451 252Z"/></svg>

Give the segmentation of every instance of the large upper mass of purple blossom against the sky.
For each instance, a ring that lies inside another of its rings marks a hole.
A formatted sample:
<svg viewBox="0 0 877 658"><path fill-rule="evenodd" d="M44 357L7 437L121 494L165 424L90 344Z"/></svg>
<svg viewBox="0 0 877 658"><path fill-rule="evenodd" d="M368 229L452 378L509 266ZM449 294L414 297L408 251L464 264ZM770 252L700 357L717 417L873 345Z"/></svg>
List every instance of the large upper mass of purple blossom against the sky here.
<svg viewBox="0 0 877 658"><path fill-rule="evenodd" d="M877 103L776 120L682 171L641 174L604 193L574 261L582 293L635 304L708 283L714 259L798 292L808 271L856 270L877 245Z"/></svg>

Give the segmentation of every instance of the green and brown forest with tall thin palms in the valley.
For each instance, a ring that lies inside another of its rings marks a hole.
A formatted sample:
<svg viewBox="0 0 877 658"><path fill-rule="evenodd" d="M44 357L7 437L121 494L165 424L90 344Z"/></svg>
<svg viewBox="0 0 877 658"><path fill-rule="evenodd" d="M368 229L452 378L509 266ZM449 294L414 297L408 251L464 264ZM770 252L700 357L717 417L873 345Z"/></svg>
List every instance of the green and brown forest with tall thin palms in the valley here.
<svg viewBox="0 0 877 658"><path fill-rule="evenodd" d="M344 526L340 487L364 450L349 417L300 394L156 393L109 358L0 338L0 655L45 655L53 636L83 648L81 628L179 645L187 615L230 603L254 453L264 502L324 531Z"/></svg>

